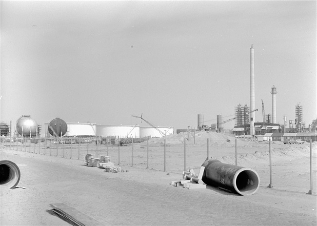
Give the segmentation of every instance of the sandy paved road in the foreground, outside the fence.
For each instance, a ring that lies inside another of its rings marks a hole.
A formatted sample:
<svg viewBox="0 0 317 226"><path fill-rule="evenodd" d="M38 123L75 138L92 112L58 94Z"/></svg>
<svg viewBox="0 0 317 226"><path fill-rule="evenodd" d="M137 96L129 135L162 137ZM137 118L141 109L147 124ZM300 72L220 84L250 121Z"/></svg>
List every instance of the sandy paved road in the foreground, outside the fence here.
<svg viewBox="0 0 317 226"><path fill-rule="evenodd" d="M316 205L315 211L292 211L257 203L256 194L174 187L168 183L180 175L172 173L131 167L106 173L81 161L21 152L1 152L4 159L19 165L19 185L27 188L1 190L0 225L67 225L46 211L61 202L101 225L317 225ZM129 178L136 173L137 180Z"/></svg>

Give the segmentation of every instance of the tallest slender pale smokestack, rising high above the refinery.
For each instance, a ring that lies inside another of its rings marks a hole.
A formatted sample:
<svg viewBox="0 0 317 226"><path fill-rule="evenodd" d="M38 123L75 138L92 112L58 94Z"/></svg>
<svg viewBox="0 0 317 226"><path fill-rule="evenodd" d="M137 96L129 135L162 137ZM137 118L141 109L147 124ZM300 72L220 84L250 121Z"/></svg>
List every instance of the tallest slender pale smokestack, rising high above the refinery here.
<svg viewBox="0 0 317 226"><path fill-rule="evenodd" d="M251 65L250 65L250 135L256 135L254 122L256 121L256 112L255 110L255 84L254 84L254 49L253 45L251 45L250 49L250 58L251 58Z"/></svg>

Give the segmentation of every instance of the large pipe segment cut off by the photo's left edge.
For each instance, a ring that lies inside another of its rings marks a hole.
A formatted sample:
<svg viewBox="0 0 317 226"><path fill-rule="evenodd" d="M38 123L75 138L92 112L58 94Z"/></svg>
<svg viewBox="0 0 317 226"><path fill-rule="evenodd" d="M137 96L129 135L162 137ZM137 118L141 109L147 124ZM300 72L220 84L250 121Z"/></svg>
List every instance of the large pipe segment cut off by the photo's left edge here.
<svg viewBox="0 0 317 226"><path fill-rule="evenodd" d="M17 164L9 161L0 161L0 187L15 188L20 181L20 169Z"/></svg>

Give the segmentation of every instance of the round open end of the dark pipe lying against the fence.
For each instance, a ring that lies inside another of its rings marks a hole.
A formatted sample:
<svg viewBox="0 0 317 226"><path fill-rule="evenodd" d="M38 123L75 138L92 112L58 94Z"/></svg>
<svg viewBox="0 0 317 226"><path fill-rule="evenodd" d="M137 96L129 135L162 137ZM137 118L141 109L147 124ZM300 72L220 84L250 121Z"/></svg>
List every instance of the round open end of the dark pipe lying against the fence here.
<svg viewBox="0 0 317 226"><path fill-rule="evenodd" d="M236 191L241 195L254 194L259 186L258 174L251 169L243 169L237 173L238 176L235 180Z"/></svg>

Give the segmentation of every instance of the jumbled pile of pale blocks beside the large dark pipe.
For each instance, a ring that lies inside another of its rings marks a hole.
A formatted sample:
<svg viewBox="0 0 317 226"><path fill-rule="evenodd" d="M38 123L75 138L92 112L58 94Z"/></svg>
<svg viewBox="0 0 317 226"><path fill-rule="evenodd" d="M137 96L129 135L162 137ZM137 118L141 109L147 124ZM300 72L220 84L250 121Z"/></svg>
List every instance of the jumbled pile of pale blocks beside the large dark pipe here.
<svg viewBox="0 0 317 226"><path fill-rule="evenodd" d="M172 186L183 186L188 189L206 188L206 184L201 180L204 173L205 166L201 166L198 175L195 174L194 169L183 171L183 179L179 181L171 181Z"/></svg>

